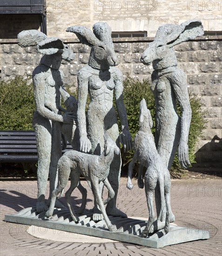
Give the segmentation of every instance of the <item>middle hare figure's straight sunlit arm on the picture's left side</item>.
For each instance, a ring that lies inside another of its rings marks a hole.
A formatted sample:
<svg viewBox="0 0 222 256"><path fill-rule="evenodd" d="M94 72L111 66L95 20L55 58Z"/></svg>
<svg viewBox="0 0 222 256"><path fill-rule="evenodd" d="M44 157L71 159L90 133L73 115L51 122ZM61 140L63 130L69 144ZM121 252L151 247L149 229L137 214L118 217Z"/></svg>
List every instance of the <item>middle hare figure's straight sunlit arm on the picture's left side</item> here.
<svg viewBox="0 0 222 256"><path fill-rule="evenodd" d="M86 102L88 95L88 76L86 72L79 71L78 73L78 128L80 132L80 150L82 152L89 152L91 149L91 142L87 138L86 128Z"/></svg>

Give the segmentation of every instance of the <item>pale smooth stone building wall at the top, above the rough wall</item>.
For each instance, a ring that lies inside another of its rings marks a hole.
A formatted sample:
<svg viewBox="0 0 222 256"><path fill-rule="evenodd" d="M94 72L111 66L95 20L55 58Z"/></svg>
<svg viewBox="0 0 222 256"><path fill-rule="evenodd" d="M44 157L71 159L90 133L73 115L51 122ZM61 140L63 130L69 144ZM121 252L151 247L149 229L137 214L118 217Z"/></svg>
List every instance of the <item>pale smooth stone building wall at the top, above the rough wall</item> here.
<svg viewBox="0 0 222 256"><path fill-rule="evenodd" d="M48 36L74 38L66 28L81 25L92 28L106 21L115 32L146 31L154 37L165 23L202 20L205 31L222 31L222 1L183 0L47 0Z"/></svg>

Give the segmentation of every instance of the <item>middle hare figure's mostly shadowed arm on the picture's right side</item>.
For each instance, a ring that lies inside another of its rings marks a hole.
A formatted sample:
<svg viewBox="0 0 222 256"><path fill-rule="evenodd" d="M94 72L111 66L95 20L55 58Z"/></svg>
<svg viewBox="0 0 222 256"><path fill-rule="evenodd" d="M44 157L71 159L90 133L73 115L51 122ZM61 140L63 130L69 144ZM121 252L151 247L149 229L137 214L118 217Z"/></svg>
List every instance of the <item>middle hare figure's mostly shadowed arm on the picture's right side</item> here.
<svg viewBox="0 0 222 256"><path fill-rule="evenodd" d="M127 111L123 103L123 84L122 84L122 73L119 69L115 72L114 75L115 83L115 102L118 115L121 121L122 132L120 134L120 142L123 145L124 152L132 148L132 137L129 132Z"/></svg>

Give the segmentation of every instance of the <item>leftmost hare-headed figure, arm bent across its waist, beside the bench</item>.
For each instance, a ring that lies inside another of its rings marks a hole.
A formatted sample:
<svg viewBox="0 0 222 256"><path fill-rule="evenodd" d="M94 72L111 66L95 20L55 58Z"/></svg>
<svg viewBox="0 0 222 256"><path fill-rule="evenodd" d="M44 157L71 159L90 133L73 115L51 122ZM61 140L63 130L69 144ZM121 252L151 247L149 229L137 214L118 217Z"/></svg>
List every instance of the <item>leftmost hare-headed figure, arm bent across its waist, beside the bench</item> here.
<svg viewBox="0 0 222 256"><path fill-rule="evenodd" d="M36 111L33 116L33 126L36 134L38 152L38 199L37 212L47 210L45 195L48 174L50 175L50 193L57 186L57 163L61 157L60 123L73 124L74 115L61 107L61 95L68 98L70 95L62 87L64 74L59 69L61 61L72 61L74 54L59 38L47 38L37 30L24 30L18 34L20 47L36 47L40 54L44 54L40 65L33 71L34 98ZM56 207L63 207L57 201Z"/></svg>

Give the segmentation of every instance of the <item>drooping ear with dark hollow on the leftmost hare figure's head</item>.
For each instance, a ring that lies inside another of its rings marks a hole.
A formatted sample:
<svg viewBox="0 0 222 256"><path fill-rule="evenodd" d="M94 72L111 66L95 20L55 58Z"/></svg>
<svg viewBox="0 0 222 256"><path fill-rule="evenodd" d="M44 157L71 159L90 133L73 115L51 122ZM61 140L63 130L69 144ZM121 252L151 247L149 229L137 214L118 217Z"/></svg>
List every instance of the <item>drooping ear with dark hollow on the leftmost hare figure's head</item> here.
<svg viewBox="0 0 222 256"><path fill-rule="evenodd" d="M64 44L61 39L57 37L50 37L40 41L37 45L37 51L40 54L55 54L59 50L64 49Z"/></svg>

